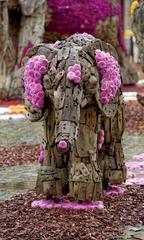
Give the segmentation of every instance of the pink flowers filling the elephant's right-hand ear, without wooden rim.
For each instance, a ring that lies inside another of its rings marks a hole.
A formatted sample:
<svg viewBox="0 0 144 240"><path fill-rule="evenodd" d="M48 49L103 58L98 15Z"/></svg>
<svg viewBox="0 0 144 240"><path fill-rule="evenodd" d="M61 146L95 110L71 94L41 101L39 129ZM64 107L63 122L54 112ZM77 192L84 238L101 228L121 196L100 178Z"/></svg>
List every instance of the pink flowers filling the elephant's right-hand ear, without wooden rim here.
<svg viewBox="0 0 144 240"><path fill-rule="evenodd" d="M107 104L115 97L121 85L119 64L113 56L99 49L95 51L95 60L102 75L100 101Z"/></svg>

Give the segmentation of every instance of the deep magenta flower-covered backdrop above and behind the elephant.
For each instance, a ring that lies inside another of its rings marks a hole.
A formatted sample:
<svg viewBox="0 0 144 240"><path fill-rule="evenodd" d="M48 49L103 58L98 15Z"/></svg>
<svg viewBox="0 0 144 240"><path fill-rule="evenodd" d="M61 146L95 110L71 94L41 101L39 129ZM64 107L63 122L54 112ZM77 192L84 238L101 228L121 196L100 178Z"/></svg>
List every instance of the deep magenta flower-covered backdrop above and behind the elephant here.
<svg viewBox="0 0 144 240"><path fill-rule="evenodd" d="M108 0L48 0L48 7L52 10L52 20L50 21L48 33L60 33L71 35L76 32L87 32L96 36L98 21L104 21L107 17L118 16L118 40L124 52L127 52L122 24L121 1L112 5Z"/></svg>

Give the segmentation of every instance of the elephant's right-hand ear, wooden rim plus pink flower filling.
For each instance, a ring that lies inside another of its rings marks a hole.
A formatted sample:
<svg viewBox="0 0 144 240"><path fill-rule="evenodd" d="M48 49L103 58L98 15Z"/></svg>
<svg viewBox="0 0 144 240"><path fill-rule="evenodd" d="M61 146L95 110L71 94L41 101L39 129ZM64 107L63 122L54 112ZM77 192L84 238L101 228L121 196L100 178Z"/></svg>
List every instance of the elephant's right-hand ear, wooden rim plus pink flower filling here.
<svg viewBox="0 0 144 240"><path fill-rule="evenodd" d="M100 39L94 39L83 50L95 59L99 74L99 89L95 92L96 102L107 117L114 117L118 105L123 102L121 69L115 48Z"/></svg>

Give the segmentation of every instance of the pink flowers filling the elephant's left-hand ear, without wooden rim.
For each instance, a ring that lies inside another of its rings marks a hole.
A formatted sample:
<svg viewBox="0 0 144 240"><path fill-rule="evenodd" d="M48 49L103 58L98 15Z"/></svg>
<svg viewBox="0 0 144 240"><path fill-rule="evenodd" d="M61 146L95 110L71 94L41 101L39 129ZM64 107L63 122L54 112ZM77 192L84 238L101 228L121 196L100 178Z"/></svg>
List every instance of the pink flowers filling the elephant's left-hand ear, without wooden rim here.
<svg viewBox="0 0 144 240"><path fill-rule="evenodd" d="M44 106L42 76L47 71L48 60L44 55L34 56L28 60L24 71L25 95L34 107Z"/></svg>

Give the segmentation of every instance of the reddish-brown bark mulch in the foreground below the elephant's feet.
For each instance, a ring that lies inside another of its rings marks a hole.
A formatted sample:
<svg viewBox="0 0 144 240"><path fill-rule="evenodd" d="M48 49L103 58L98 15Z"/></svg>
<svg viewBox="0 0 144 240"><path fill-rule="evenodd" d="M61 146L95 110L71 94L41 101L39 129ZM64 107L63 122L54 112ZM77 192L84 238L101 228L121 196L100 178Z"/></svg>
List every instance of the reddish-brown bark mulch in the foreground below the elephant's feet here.
<svg viewBox="0 0 144 240"><path fill-rule="evenodd" d="M118 240L124 225L144 224L144 188L104 197L104 209L31 208L34 191L0 203L2 240Z"/></svg>

